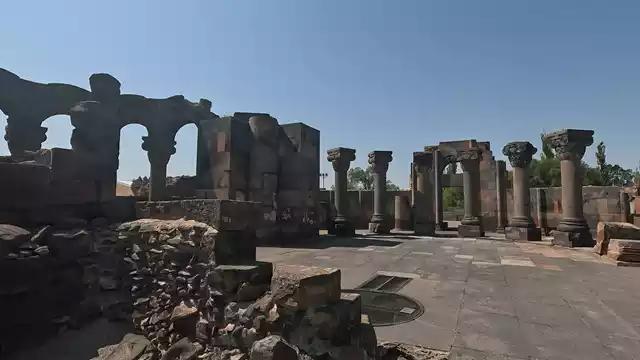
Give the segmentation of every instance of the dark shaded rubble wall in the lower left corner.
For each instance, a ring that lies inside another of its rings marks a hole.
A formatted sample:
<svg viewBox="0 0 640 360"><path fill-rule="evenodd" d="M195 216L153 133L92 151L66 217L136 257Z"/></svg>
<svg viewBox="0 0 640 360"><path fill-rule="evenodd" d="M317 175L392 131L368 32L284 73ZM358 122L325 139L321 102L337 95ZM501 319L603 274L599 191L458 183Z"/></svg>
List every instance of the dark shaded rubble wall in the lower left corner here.
<svg viewBox="0 0 640 360"><path fill-rule="evenodd" d="M33 232L0 225L0 355L102 315L122 318L122 259L105 219L67 219Z"/></svg>

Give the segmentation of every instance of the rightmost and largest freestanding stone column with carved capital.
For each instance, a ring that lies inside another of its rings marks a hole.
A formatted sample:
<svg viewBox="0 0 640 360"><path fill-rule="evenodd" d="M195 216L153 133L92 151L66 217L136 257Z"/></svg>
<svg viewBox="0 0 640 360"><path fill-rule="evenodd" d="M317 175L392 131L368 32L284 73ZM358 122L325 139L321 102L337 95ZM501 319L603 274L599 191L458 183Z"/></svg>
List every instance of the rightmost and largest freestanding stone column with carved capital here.
<svg viewBox="0 0 640 360"><path fill-rule="evenodd" d="M593 131L565 129L546 134L543 140L560 159L562 176L562 220L552 232L552 243L568 247L593 246L582 207L581 164L585 150L593 144Z"/></svg>

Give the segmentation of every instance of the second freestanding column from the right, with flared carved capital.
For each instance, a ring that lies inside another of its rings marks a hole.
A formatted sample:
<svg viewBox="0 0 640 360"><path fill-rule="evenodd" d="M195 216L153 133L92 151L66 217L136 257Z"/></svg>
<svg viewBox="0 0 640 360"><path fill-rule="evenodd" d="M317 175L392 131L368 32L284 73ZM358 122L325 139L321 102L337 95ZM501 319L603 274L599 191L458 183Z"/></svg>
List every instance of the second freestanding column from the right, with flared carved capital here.
<svg viewBox="0 0 640 360"><path fill-rule="evenodd" d="M505 237L510 240L542 240L540 229L531 218L529 190L529 164L537 151L528 141L510 142L502 148L513 167L513 216L505 229Z"/></svg>

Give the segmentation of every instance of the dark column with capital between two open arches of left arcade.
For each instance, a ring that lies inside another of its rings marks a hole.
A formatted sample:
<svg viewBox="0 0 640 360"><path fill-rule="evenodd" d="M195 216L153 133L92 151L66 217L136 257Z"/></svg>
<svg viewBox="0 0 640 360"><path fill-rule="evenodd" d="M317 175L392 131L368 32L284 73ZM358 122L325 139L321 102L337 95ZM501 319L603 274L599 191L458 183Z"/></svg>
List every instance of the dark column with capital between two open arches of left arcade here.
<svg viewBox="0 0 640 360"><path fill-rule="evenodd" d="M164 137L143 136L142 149L147 151L150 163L149 201L166 200L167 164L176 153L176 142Z"/></svg>

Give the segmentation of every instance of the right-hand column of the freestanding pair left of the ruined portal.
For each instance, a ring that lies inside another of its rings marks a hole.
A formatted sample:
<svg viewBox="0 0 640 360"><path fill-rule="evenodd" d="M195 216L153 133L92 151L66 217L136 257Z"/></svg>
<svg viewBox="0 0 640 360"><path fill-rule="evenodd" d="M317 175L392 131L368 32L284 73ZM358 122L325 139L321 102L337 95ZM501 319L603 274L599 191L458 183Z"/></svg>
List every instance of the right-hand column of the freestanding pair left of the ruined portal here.
<svg viewBox="0 0 640 360"><path fill-rule="evenodd" d="M393 160L391 151L372 151L369 164L373 167L373 216L369 222L369 232L386 234L391 230L387 210L387 170Z"/></svg>

